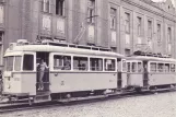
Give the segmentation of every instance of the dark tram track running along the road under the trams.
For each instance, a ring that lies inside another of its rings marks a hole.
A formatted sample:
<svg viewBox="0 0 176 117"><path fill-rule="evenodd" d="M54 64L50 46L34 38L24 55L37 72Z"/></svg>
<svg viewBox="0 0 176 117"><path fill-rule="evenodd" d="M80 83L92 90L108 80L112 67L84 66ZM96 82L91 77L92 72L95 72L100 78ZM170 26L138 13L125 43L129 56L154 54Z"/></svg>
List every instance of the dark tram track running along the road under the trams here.
<svg viewBox="0 0 176 117"><path fill-rule="evenodd" d="M175 92L169 91L169 92ZM160 93L169 93L168 91L160 91ZM43 109L48 107L60 107L60 106L71 106L71 105L80 105L80 104L90 104L95 102L104 102L104 101L110 101L110 100L118 100L118 98L127 98L127 97L136 97L136 96L145 96L145 95L153 95L152 92L142 92L142 93L126 93L126 94L119 94L119 95L109 95L105 98L96 98L96 100L85 100L85 101L74 101L69 103L59 103L59 102L46 102L46 103L38 103L34 105L28 105L28 103L22 103L22 104L0 104L0 113L11 113L11 112L19 112L19 110L30 110L30 109Z"/></svg>

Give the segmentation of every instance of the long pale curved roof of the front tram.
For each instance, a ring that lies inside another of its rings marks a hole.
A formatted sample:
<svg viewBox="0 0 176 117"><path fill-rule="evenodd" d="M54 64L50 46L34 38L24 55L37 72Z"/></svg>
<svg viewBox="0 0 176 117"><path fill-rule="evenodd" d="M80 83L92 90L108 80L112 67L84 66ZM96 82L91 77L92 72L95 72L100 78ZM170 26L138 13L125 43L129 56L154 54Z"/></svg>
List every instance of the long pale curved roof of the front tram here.
<svg viewBox="0 0 176 117"><path fill-rule="evenodd" d="M7 49L4 56L12 56L15 54L21 54L21 51L46 51L46 52L62 52L62 54L78 54L78 55L91 55L91 56L110 56L125 58L124 55L113 52L113 51L101 51L101 50L91 50L73 47L62 47L62 46L51 46L51 45L22 45L14 46L12 50Z"/></svg>

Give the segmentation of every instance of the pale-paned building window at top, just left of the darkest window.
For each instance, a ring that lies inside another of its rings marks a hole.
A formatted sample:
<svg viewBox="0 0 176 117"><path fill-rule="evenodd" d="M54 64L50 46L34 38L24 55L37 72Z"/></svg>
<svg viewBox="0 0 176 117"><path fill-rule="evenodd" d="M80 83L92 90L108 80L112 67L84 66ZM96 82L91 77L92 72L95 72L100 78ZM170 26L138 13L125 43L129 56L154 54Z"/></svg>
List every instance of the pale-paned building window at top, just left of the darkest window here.
<svg viewBox="0 0 176 117"><path fill-rule="evenodd" d="M50 13L50 0L42 0L42 11Z"/></svg>

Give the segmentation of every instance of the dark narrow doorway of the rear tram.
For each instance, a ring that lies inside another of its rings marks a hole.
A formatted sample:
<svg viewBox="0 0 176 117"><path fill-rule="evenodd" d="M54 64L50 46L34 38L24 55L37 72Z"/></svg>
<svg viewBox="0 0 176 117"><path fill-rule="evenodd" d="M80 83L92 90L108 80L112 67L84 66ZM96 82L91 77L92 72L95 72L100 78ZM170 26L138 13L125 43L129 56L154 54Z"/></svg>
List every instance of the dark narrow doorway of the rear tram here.
<svg viewBox="0 0 176 117"><path fill-rule="evenodd" d="M149 81L148 61L143 61L143 86L148 86Z"/></svg>

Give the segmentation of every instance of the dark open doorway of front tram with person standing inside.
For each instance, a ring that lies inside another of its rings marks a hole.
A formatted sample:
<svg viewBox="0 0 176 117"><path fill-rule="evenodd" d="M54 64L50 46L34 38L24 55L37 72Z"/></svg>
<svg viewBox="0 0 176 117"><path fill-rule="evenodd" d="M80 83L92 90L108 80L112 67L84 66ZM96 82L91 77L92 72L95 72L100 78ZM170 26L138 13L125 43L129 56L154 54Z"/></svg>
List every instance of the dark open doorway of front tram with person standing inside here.
<svg viewBox="0 0 176 117"><path fill-rule="evenodd" d="M36 67L37 67L37 92L49 91L49 52L37 52L36 54Z"/></svg>

